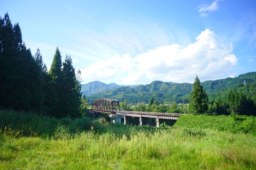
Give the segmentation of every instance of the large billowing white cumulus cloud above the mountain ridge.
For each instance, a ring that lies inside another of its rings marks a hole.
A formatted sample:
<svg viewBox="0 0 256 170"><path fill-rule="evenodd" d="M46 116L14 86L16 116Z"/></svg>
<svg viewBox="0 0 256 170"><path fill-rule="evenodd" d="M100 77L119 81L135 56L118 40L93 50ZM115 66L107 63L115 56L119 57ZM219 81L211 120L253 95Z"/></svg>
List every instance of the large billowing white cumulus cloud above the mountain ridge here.
<svg viewBox="0 0 256 170"><path fill-rule="evenodd" d="M232 44L225 44L209 29L202 31L188 46L160 46L132 57L115 55L82 69L86 81L122 77L123 84L145 84L154 80L193 82L228 76L238 58L232 54Z"/></svg>

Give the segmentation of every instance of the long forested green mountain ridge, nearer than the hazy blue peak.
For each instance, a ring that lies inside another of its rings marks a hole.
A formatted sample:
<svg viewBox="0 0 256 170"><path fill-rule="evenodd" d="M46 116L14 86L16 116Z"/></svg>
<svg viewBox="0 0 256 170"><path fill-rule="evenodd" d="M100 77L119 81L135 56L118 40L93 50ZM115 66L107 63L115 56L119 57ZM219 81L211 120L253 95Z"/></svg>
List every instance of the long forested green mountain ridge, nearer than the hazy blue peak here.
<svg viewBox="0 0 256 170"><path fill-rule="evenodd" d="M238 90L244 86L244 81L246 86L242 88L243 90ZM225 101L226 92L229 89L234 91L243 91L245 95L249 94L252 98L255 97L256 100L255 84L256 72L241 74L235 78L229 77L220 80L201 82L201 85L205 89L210 101L216 100L216 98L220 98ZM133 103L148 103L151 96L154 96L154 98L160 103L167 101L188 103L192 88L192 83L153 81L148 85L139 85L137 87L123 86L105 92L102 91L101 93L87 96L87 100L91 103L98 98L114 98L120 102L127 100L127 102Z"/></svg>

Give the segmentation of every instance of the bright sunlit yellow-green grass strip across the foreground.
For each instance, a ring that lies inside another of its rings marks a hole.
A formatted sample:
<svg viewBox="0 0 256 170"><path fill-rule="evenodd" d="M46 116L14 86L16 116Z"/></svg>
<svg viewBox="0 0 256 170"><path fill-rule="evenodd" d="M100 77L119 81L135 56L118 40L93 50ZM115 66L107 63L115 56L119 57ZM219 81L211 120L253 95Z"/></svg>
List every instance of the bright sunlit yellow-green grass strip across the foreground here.
<svg viewBox="0 0 256 170"><path fill-rule="evenodd" d="M125 128L133 128L126 126ZM216 130L160 129L52 138L0 137L0 169L255 169L256 138Z"/></svg>

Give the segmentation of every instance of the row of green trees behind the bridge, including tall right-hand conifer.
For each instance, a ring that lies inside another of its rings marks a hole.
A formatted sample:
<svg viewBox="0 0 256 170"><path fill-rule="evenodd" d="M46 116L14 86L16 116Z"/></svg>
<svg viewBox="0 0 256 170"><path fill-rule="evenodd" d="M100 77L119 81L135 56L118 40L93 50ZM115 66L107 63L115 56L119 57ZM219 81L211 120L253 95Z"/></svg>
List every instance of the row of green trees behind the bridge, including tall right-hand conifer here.
<svg viewBox="0 0 256 170"><path fill-rule="evenodd" d="M245 89L247 87L244 87ZM189 98L189 105L177 104L176 102L165 102L160 104L158 100L152 96L148 105L145 102L140 102L137 105L128 104L127 100L120 102L120 108L128 111L147 111L161 113L192 113L195 115L254 115L256 113L256 105L252 98L239 90L233 92L231 89L226 93L227 100L223 101L220 98L209 102L208 96L200 85L200 80L196 76L193 90Z"/></svg>

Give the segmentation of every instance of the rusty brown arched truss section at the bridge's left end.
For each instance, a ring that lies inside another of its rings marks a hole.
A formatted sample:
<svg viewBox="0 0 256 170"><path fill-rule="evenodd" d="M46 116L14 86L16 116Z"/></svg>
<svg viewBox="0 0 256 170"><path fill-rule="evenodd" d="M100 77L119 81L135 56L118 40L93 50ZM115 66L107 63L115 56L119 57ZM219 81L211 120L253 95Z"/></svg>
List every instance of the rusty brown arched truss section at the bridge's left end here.
<svg viewBox="0 0 256 170"><path fill-rule="evenodd" d="M105 113L120 111L119 101L111 98L100 98L91 104L91 110Z"/></svg>

